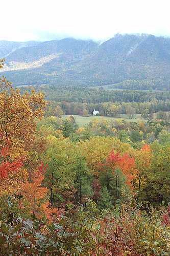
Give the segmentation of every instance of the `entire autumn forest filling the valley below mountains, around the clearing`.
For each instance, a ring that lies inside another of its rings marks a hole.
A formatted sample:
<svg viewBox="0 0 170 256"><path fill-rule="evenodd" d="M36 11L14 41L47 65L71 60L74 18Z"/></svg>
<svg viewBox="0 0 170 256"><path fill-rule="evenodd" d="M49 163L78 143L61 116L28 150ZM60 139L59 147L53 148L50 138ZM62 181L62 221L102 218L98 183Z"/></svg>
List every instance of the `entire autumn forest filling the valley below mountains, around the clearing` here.
<svg viewBox="0 0 170 256"><path fill-rule="evenodd" d="M169 98L1 76L0 255L169 255Z"/></svg>

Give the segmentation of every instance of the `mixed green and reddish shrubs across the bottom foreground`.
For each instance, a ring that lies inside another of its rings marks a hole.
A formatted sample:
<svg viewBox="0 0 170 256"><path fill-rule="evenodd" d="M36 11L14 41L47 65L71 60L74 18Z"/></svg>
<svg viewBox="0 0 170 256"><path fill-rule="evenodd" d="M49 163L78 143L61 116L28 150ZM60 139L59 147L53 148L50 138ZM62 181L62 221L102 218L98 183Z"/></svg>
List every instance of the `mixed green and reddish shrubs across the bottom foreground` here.
<svg viewBox="0 0 170 256"><path fill-rule="evenodd" d="M67 205L53 222L21 218L1 222L1 255L168 255L169 212L117 205L99 212L93 201Z"/></svg>

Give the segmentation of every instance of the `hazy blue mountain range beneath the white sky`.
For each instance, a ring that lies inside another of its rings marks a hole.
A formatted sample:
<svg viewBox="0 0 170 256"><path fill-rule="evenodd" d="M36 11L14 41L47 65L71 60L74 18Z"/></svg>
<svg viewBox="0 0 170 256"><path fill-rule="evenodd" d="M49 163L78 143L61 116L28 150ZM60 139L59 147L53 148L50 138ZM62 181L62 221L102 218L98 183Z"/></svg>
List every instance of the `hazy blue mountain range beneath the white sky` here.
<svg viewBox="0 0 170 256"><path fill-rule="evenodd" d="M116 83L115 88L166 90L170 38L118 34L101 45L74 38L35 43L11 50L3 73L15 84Z"/></svg>

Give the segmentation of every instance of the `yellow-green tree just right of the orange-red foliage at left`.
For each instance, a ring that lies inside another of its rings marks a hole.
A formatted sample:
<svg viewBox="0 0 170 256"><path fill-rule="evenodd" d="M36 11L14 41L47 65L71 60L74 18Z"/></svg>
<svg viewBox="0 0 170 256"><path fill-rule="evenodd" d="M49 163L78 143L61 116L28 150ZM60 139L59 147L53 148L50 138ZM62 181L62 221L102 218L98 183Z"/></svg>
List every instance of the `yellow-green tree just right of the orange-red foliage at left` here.
<svg viewBox="0 0 170 256"><path fill-rule="evenodd" d="M50 135L47 145L45 155L42 156L44 164L47 164L44 184L50 189L50 200L54 204L66 200L63 193L74 186L78 156L69 138L58 139Z"/></svg>

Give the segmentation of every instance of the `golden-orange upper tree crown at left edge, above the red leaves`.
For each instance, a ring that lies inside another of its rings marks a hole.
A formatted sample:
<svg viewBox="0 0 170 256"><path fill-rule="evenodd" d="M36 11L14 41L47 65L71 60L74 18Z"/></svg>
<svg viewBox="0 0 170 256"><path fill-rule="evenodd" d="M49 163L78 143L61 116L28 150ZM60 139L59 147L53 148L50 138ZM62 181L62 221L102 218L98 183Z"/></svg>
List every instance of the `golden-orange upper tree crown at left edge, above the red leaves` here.
<svg viewBox="0 0 170 256"><path fill-rule="evenodd" d="M45 107L42 93L20 94L6 78L0 79L0 133L10 139L11 157L24 154L25 143L34 140L35 118L43 114Z"/></svg>

